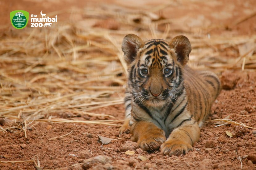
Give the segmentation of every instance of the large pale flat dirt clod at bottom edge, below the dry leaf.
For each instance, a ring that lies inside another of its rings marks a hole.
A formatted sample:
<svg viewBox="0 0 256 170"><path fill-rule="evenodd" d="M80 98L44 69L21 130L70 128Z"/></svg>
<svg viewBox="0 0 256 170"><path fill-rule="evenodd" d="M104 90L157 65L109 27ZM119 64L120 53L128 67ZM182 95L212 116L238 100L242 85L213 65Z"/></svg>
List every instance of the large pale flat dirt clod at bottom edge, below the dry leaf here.
<svg viewBox="0 0 256 170"><path fill-rule="evenodd" d="M111 163L111 157L109 156L103 156L103 155L98 155L98 156L94 156L93 158L89 158L87 160L83 161L82 164L82 168L83 169L89 169L93 166L93 164L107 164L107 163Z"/></svg>

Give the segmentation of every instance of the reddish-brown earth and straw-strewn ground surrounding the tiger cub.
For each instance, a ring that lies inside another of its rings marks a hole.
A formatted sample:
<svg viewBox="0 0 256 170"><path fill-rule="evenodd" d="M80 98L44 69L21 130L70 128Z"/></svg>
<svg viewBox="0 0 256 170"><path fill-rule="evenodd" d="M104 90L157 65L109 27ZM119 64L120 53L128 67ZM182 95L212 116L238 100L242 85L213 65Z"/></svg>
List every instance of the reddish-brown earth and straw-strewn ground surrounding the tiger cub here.
<svg viewBox="0 0 256 170"><path fill-rule="evenodd" d="M254 0L0 1L0 169L256 169L255 9ZM13 10L58 22L16 30ZM249 128L208 121L181 156L143 152L129 139L101 147L98 135L119 138L124 119L120 50L130 33L187 36L189 65L223 84L209 120Z"/></svg>

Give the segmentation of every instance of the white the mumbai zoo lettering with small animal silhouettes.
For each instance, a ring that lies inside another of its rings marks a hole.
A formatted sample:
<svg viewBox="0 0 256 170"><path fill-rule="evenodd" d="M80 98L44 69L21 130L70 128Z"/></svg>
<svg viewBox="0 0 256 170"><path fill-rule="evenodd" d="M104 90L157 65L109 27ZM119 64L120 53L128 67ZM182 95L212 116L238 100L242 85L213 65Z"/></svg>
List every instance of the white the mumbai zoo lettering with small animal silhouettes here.
<svg viewBox="0 0 256 170"><path fill-rule="evenodd" d="M46 17L46 14L40 12L41 17L37 17L37 15L31 14L31 27L50 27L52 25L52 22L57 22L57 15L55 15L54 18Z"/></svg>

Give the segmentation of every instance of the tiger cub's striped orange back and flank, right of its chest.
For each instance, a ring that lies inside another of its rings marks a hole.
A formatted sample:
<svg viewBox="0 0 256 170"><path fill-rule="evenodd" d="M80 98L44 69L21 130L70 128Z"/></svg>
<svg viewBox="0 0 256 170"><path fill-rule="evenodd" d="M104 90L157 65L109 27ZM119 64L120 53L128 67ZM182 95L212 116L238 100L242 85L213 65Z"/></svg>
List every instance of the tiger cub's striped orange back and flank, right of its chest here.
<svg viewBox="0 0 256 170"><path fill-rule="evenodd" d="M195 71L185 66L184 84L188 95L188 107L200 127L220 93L220 80L215 73Z"/></svg>

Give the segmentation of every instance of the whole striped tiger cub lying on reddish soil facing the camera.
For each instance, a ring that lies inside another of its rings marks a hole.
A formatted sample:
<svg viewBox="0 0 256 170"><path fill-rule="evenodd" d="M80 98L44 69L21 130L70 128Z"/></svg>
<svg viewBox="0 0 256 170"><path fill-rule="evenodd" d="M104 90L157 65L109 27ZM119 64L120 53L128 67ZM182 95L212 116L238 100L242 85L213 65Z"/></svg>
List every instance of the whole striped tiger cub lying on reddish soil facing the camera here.
<svg viewBox="0 0 256 170"><path fill-rule="evenodd" d="M186 66L191 44L185 36L144 42L128 34L122 50L128 82L126 120L119 133L129 129L131 140L145 151L186 154L198 141L199 127L220 93L219 78Z"/></svg>

